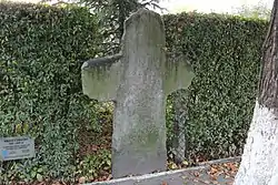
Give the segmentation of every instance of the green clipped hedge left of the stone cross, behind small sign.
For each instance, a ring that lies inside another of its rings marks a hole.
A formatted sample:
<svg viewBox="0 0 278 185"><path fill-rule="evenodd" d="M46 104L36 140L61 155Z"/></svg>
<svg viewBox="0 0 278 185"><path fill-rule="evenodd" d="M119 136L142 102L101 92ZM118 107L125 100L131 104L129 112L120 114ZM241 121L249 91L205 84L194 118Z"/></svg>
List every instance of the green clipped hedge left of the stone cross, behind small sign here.
<svg viewBox="0 0 278 185"><path fill-rule="evenodd" d="M31 135L37 156L3 163L0 181L72 179L77 131L93 110L82 95L81 62L101 42L86 8L0 3L0 136Z"/></svg>

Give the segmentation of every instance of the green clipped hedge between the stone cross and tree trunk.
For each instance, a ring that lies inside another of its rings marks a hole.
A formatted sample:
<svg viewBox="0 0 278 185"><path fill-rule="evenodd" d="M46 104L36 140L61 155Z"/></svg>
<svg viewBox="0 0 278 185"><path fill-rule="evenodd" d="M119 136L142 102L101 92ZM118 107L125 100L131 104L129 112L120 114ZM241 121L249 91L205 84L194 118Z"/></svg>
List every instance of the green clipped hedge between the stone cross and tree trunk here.
<svg viewBox="0 0 278 185"><path fill-rule="evenodd" d="M187 111L188 157L240 155L252 117L268 22L214 13L163 19L169 52L183 53L197 75L190 89L179 94Z"/></svg>

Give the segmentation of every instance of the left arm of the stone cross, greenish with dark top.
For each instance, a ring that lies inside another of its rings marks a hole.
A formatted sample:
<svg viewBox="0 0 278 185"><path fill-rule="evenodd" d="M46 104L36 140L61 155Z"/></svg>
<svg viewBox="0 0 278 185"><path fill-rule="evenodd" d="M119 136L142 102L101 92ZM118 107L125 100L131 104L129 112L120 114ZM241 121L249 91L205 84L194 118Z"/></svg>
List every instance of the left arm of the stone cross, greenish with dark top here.
<svg viewBox="0 0 278 185"><path fill-rule="evenodd" d="M81 66L82 91L90 99L115 101L120 84L121 53L86 61Z"/></svg>

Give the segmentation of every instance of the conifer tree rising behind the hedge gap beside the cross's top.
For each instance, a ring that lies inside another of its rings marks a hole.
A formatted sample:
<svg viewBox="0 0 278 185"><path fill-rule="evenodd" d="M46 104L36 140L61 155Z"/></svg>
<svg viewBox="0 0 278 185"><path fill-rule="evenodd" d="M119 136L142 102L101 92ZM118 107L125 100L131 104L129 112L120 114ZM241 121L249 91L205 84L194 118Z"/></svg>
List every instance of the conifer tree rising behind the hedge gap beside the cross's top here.
<svg viewBox="0 0 278 185"><path fill-rule="evenodd" d="M51 0L41 0L48 2ZM119 51L121 37L123 34L125 20L139 8L161 9L158 6L160 0L58 0L56 4L82 4L90 9L91 13L98 16L99 31L106 38L102 49L106 53L112 54ZM162 10L162 9L161 9Z"/></svg>

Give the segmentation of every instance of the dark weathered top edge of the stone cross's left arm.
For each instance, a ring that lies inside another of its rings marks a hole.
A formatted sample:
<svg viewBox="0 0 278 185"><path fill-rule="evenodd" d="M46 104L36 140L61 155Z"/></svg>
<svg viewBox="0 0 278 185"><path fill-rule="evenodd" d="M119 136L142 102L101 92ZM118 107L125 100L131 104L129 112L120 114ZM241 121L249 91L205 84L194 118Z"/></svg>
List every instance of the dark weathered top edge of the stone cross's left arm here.
<svg viewBox="0 0 278 185"><path fill-rule="evenodd" d="M82 64L81 69L86 70L86 69L90 69L93 66L108 66L108 65L113 64L116 61L118 61L121 58L122 58L122 54L118 53L118 54L110 55L110 56L90 59Z"/></svg>

